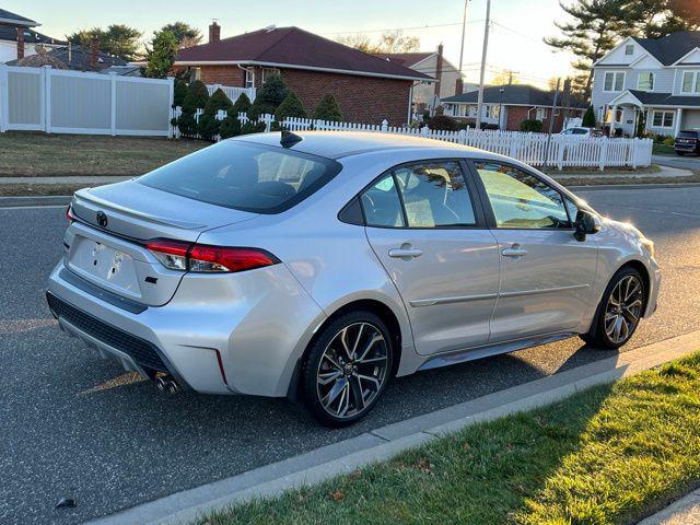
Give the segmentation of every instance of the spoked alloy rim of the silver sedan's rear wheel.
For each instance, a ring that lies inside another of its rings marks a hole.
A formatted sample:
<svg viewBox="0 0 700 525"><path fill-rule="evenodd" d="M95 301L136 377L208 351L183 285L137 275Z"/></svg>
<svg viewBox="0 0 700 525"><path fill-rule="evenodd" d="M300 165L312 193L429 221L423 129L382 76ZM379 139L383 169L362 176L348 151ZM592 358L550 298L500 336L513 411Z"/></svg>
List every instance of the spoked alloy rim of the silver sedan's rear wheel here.
<svg viewBox="0 0 700 525"><path fill-rule="evenodd" d="M316 371L316 393L335 418L351 418L366 410L382 392L388 369L388 347L382 331L370 323L354 323L330 340Z"/></svg>

